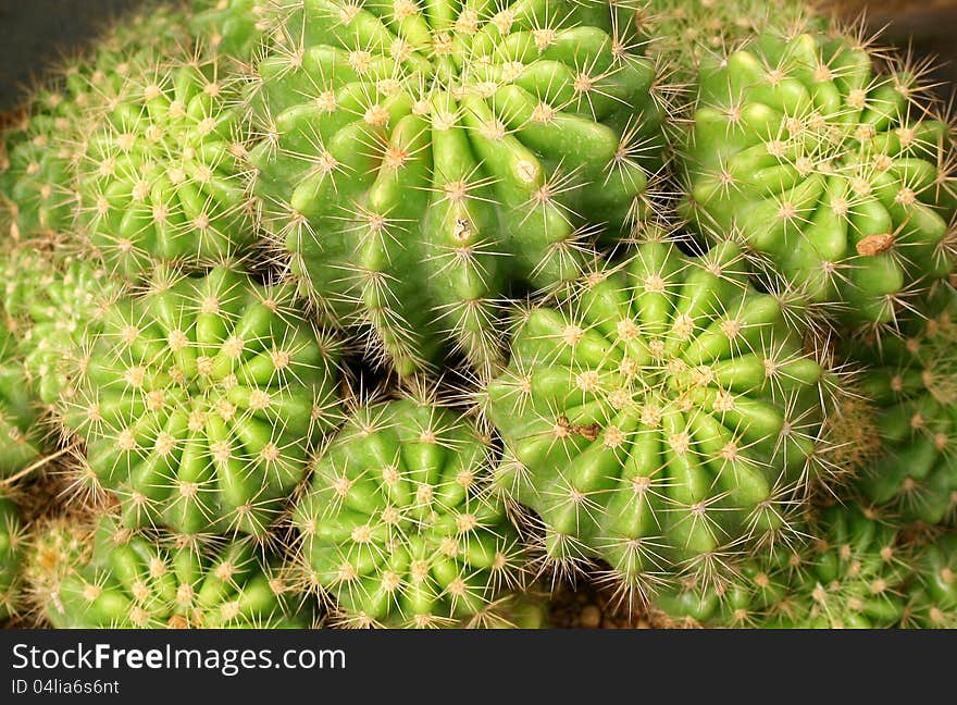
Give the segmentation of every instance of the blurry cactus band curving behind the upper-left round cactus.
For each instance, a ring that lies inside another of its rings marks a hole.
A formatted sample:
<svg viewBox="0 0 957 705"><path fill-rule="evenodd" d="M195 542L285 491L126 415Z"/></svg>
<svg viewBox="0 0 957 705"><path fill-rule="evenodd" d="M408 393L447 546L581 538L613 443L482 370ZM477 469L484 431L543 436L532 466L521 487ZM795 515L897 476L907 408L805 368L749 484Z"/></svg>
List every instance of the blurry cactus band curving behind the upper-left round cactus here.
<svg viewBox="0 0 957 705"><path fill-rule="evenodd" d="M151 4L63 61L32 95L25 119L0 136L0 225L14 239L71 230L73 165L90 111L115 99L149 57L186 41L182 13Z"/></svg>

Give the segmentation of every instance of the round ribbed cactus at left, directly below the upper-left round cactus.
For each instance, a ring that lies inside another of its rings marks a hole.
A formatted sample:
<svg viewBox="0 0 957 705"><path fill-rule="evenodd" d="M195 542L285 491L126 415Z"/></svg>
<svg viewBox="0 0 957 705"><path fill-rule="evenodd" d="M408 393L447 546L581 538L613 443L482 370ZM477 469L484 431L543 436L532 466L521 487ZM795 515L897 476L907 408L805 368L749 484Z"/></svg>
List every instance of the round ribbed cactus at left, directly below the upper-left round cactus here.
<svg viewBox="0 0 957 705"><path fill-rule="evenodd" d="M336 345L291 295L159 268L105 312L63 412L125 525L265 534L338 418Z"/></svg>

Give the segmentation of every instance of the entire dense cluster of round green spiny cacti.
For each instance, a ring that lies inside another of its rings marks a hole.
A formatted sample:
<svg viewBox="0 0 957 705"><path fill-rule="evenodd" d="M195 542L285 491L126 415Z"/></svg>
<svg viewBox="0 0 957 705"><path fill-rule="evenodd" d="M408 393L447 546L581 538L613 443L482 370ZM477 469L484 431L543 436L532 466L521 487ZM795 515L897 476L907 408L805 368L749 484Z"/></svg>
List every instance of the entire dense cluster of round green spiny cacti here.
<svg viewBox="0 0 957 705"><path fill-rule="evenodd" d="M119 20L0 119L0 620L957 626L925 71L805 0Z"/></svg>

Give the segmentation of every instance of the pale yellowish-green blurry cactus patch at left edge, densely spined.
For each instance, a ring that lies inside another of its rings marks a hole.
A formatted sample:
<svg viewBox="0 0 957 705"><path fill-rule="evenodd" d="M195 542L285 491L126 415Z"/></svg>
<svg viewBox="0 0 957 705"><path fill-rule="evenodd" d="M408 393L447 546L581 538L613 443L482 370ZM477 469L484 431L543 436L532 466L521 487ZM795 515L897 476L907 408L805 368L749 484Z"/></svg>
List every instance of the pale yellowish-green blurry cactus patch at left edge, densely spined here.
<svg viewBox="0 0 957 705"><path fill-rule="evenodd" d="M3 304L15 321L17 350L39 400L52 405L69 388L70 367L83 336L99 332L121 285L95 263L35 249L3 258ZM57 245L54 244L54 247Z"/></svg>

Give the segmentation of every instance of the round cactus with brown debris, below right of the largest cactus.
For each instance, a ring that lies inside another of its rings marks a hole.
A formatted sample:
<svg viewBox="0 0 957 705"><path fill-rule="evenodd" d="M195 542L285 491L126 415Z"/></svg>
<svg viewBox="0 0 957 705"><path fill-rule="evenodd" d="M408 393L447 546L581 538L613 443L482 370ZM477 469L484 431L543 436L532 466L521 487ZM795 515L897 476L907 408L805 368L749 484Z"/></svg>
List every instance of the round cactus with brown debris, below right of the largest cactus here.
<svg viewBox="0 0 957 705"><path fill-rule="evenodd" d="M487 387L497 484L556 559L600 557L626 583L704 570L781 529L778 503L815 475L821 374L737 246L647 242L524 316Z"/></svg>

